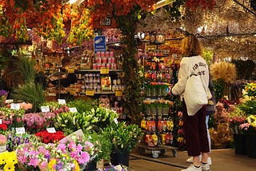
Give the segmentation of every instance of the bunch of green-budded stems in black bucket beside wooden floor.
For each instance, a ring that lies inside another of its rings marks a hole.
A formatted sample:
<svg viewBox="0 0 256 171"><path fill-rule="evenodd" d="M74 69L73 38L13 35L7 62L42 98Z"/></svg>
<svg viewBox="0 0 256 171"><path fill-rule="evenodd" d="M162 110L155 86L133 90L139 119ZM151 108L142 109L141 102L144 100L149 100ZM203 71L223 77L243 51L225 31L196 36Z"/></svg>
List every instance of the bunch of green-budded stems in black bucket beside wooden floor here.
<svg viewBox="0 0 256 171"><path fill-rule="evenodd" d="M103 133L109 134L112 142L111 164L129 166L129 153L141 140L142 129L122 121L107 126Z"/></svg>

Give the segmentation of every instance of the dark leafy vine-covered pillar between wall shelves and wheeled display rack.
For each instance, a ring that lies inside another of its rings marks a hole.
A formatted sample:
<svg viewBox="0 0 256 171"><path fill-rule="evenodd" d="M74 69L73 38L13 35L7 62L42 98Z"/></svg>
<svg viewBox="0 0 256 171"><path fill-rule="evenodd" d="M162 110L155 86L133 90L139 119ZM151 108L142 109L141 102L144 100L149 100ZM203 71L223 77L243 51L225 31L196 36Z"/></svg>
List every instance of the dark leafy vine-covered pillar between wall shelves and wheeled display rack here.
<svg viewBox="0 0 256 171"><path fill-rule="evenodd" d="M141 111L141 94L140 94L140 79L139 79L139 67L137 59L137 42L134 39L136 34L136 23L138 23L138 14L140 14L140 8L136 6L130 14L126 16L119 16L117 18L118 26L122 30L123 39L122 44L126 45L123 56L124 61L122 63L124 71L124 84L126 85L124 113L132 118L132 121L140 121Z"/></svg>

